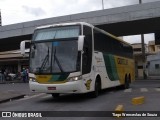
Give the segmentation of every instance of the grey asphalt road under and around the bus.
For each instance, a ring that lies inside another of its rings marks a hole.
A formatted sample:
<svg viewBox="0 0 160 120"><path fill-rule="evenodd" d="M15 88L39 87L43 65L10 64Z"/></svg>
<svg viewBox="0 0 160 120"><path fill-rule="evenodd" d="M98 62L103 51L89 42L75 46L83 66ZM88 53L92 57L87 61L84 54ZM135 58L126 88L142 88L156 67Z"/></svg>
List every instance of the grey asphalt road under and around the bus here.
<svg viewBox="0 0 160 120"><path fill-rule="evenodd" d="M1 85L2 86L2 85ZM49 94L32 94L29 92L27 83L16 83L10 85L3 85L8 89L21 89L26 96L22 99L14 100L0 104L0 111L114 111L116 106L122 104L124 111L160 111L160 80L139 80L131 85L130 89L107 89L103 91L98 98L89 98L87 95L61 95L58 99L53 99ZM2 90L2 88L0 90ZM133 97L145 97L145 103L142 105L132 105L131 99ZM62 114L63 116L63 114ZM5 118L3 118L5 119ZM23 118L34 120L35 118ZM42 118L53 119L53 118ZM114 117L54 117L54 120L112 120ZM147 119L159 120L160 118L123 118L128 119Z"/></svg>

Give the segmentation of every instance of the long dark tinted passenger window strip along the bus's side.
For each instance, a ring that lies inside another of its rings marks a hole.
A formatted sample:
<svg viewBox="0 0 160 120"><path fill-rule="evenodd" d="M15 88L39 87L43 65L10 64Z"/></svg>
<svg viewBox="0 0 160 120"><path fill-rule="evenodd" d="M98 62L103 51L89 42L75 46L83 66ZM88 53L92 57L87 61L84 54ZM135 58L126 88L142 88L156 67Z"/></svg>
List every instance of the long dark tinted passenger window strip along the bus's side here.
<svg viewBox="0 0 160 120"><path fill-rule="evenodd" d="M132 47L94 29L94 49L108 54L133 58Z"/></svg>

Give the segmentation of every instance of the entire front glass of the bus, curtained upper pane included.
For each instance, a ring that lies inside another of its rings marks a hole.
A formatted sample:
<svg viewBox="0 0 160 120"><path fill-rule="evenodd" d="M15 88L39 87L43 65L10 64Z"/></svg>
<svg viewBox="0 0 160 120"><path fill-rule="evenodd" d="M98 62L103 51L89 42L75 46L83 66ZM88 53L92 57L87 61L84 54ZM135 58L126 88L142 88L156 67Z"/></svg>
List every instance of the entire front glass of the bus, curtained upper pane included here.
<svg viewBox="0 0 160 120"><path fill-rule="evenodd" d="M39 29L30 51L30 72L66 73L80 70L79 26Z"/></svg>

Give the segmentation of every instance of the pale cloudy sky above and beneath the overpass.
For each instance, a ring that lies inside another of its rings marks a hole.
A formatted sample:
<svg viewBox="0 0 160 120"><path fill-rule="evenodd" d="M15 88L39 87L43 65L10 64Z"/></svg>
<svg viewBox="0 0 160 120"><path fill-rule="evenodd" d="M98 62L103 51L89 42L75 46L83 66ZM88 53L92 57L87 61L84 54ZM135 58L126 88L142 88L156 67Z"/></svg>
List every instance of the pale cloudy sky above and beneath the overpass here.
<svg viewBox="0 0 160 120"><path fill-rule="evenodd" d="M104 9L138 4L139 0L103 0ZM142 0L143 3L160 0ZM102 9L102 0L0 0L2 25L77 14ZM140 36L127 36L130 43L140 42ZM145 42L154 34L145 35Z"/></svg>

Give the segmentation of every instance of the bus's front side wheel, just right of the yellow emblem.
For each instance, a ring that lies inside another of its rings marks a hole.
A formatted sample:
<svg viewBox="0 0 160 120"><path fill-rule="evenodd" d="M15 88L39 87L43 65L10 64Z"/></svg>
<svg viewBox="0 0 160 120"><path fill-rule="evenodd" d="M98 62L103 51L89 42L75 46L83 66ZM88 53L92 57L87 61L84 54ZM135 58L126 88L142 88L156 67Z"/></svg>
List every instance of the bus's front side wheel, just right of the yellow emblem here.
<svg viewBox="0 0 160 120"><path fill-rule="evenodd" d="M99 79L96 79L94 91L91 92L91 97L92 97L92 98L98 97L100 90L101 90L100 80L99 80Z"/></svg>

